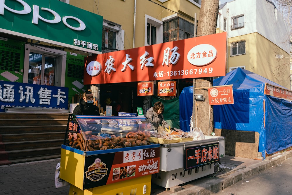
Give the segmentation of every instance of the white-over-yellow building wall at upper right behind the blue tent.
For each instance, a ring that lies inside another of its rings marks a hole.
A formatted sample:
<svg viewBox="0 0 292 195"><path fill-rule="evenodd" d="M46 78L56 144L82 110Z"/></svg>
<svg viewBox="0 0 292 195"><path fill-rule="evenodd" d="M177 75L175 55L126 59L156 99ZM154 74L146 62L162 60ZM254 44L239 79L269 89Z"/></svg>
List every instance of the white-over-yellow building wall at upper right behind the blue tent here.
<svg viewBox="0 0 292 195"><path fill-rule="evenodd" d="M227 72L243 67L290 89L288 26L274 5L266 0L234 0L219 12L217 33L223 31L223 17L227 18ZM232 18L243 14L244 27L231 30ZM241 40L246 41L246 54L230 56L231 43ZM284 58L275 58L277 54Z"/></svg>

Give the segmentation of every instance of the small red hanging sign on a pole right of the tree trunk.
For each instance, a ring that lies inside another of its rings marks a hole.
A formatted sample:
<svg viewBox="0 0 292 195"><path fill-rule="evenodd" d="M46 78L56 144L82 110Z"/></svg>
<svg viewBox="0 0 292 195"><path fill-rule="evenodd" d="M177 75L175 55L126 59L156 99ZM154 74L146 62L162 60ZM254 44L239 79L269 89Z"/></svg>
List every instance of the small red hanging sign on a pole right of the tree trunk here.
<svg viewBox="0 0 292 195"><path fill-rule="evenodd" d="M213 87L208 89L209 104L222 105L233 104L233 91L232 86Z"/></svg>

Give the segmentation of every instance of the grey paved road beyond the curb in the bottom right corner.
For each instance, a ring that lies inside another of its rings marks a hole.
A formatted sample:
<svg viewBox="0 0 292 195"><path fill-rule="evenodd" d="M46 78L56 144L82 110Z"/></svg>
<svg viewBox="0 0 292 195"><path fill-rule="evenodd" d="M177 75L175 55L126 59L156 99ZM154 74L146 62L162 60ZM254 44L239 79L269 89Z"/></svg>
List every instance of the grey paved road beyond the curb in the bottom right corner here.
<svg viewBox="0 0 292 195"><path fill-rule="evenodd" d="M216 195L288 195L292 194L292 158L244 179Z"/></svg>

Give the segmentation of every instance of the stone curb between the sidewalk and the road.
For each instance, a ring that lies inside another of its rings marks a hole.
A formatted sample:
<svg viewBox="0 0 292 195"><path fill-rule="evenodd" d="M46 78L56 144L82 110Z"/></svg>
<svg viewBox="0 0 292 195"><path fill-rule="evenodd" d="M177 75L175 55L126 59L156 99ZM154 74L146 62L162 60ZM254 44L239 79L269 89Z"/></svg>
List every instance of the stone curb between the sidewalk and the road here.
<svg viewBox="0 0 292 195"><path fill-rule="evenodd" d="M292 158L292 150L277 153L272 156L266 157L266 160L250 165L246 168L231 170L230 172L214 178L201 178L203 182L192 182L189 187L182 189L181 186L174 186L170 188L172 195L211 195L223 189L247 179L257 173L267 170L272 166L280 164L288 158ZM180 191L178 191L180 190Z"/></svg>

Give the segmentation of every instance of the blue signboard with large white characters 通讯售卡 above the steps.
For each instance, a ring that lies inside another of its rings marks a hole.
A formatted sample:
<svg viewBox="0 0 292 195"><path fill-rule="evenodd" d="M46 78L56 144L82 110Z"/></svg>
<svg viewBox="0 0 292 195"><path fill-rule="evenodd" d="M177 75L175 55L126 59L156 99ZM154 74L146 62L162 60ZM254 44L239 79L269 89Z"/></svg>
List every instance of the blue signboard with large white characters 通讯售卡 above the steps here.
<svg viewBox="0 0 292 195"><path fill-rule="evenodd" d="M0 81L0 112L6 106L68 109L68 88Z"/></svg>

